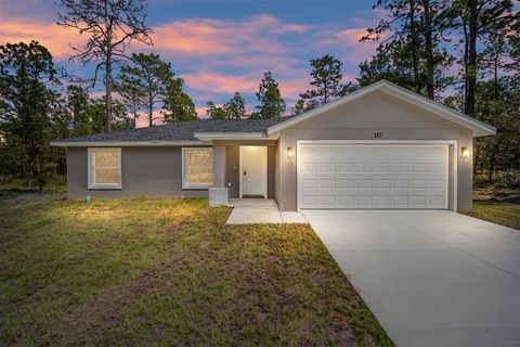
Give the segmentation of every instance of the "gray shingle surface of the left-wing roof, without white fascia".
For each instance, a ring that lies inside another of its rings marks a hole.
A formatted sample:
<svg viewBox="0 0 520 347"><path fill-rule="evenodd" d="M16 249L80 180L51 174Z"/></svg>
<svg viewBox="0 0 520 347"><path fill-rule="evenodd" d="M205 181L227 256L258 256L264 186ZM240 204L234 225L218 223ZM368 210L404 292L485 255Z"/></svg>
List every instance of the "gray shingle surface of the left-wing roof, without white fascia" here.
<svg viewBox="0 0 520 347"><path fill-rule="evenodd" d="M55 142L92 142L92 141L198 141L195 132L262 132L275 124L292 116L280 119L198 119L138 128L122 131L100 132Z"/></svg>

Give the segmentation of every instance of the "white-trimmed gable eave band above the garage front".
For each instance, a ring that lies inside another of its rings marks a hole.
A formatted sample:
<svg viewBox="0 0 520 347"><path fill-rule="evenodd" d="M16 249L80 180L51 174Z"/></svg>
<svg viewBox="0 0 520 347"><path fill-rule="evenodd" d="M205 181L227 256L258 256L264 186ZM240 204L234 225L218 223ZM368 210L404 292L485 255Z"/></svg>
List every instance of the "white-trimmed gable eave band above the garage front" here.
<svg viewBox="0 0 520 347"><path fill-rule="evenodd" d="M474 119L468 115L465 115L464 113L460 113L458 111L455 111L451 107L447 107L439 102L435 102L431 99L425 98L418 93L415 93L406 88L400 87L398 85L394 85L392 82L389 82L388 80L380 80L378 82L375 82L370 86L367 86L363 89L360 89L353 93L350 93L348 95L344 95L342 98L336 99L325 105L315 107L311 111L308 111L298 117L294 117L291 119L288 119L287 121L284 121L283 124L275 124L269 127L268 129L268 136L277 133L283 129L286 129L288 127L291 127L300 121L313 118L315 116L318 116L329 110L336 108L340 105L344 105L353 100L360 99L363 95L366 95L368 93L375 92L375 91L381 91L385 92L389 95L392 95L396 99L400 99L402 101L405 101L410 104L413 104L417 107L420 107L425 111L428 111L432 114L435 114L442 118L445 118L447 120L451 120L464 128L470 129L473 132L473 137L483 137L483 136L490 136L490 134L495 134L496 129L483 121L480 121L478 119Z"/></svg>

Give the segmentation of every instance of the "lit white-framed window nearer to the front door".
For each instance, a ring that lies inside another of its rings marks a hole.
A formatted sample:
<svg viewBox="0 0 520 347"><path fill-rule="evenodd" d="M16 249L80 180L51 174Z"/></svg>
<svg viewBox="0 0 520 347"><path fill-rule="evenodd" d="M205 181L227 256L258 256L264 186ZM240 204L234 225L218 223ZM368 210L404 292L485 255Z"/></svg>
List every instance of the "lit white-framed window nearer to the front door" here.
<svg viewBox="0 0 520 347"><path fill-rule="evenodd" d="M206 189L213 183L213 151L182 149L182 188Z"/></svg>

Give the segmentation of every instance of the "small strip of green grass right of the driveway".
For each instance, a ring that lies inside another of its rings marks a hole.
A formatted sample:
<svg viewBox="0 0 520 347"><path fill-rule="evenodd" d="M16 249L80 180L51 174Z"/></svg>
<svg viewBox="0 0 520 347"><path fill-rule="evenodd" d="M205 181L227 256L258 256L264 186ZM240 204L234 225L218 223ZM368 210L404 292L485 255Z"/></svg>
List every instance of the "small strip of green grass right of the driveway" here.
<svg viewBox="0 0 520 347"><path fill-rule="evenodd" d="M520 229L520 205L473 201L473 208L466 215L509 228Z"/></svg>

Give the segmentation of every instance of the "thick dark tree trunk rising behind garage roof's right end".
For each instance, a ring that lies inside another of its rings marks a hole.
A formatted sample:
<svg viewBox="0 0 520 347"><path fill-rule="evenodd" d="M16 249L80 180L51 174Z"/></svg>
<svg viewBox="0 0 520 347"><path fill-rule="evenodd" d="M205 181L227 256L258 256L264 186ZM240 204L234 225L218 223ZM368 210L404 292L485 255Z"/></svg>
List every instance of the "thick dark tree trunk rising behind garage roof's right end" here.
<svg viewBox="0 0 520 347"><path fill-rule="evenodd" d="M477 30L478 30L478 0L467 0L469 5L469 25L467 37L467 61L466 61L466 100L464 112L474 116L474 89L477 86Z"/></svg>

